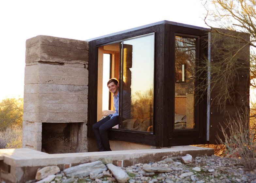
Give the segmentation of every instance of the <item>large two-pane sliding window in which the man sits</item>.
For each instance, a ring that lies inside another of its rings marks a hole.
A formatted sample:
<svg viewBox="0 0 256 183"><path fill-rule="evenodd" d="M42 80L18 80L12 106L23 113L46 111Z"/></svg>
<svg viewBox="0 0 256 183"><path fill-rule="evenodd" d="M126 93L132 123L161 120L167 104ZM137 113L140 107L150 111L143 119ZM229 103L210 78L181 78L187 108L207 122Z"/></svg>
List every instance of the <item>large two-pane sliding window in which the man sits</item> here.
<svg viewBox="0 0 256 183"><path fill-rule="evenodd" d="M114 113L106 83L115 77L120 82L120 125L114 128L152 132L154 34L101 46L98 54L97 120Z"/></svg>

